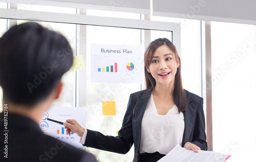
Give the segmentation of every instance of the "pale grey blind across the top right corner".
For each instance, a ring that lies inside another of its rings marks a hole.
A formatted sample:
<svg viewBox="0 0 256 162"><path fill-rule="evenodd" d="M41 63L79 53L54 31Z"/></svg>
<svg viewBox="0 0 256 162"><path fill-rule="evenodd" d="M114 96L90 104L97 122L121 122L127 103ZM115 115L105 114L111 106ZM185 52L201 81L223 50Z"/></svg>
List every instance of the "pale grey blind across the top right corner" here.
<svg viewBox="0 0 256 162"><path fill-rule="evenodd" d="M153 0L153 15L256 24L255 0Z"/></svg>

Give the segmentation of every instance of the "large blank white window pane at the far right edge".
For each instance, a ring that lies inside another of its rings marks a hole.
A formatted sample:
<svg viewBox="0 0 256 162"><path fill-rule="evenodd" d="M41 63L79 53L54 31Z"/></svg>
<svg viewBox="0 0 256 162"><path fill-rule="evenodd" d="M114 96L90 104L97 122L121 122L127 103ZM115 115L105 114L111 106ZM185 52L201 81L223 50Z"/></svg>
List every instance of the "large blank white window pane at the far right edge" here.
<svg viewBox="0 0 256 162"><path fill-rule="evenodd" d="M211 22L213 149L252 161L256 152L255 26Z"/></svg>

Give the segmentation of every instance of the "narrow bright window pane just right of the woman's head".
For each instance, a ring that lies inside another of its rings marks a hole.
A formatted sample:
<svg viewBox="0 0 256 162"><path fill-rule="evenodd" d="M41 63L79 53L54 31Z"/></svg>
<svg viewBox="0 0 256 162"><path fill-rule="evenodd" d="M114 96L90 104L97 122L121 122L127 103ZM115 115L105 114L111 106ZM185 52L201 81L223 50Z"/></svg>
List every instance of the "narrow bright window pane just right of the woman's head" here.
<svg viewBox="0 0 256 162"><path fill-rule="evenodd" d="M181 23L181 74L183 88L202 96L201 23Z"/></svg>

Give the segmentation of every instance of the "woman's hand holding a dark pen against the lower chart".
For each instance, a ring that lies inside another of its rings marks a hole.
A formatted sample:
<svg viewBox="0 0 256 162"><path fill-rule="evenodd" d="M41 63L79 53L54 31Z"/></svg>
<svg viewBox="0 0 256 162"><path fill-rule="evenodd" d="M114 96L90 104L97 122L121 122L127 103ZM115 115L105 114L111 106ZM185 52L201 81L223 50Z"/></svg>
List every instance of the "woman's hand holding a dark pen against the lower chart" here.
<svg viewBox="0 0 256 162"><path fill-rule="evenodd" d="M84 128L76 120L68 119L66 120L66 123L63 123L63 125L65 126L66 132L69 136L71 135L71 132L73 132L79 137L82 137Z"/></svg>

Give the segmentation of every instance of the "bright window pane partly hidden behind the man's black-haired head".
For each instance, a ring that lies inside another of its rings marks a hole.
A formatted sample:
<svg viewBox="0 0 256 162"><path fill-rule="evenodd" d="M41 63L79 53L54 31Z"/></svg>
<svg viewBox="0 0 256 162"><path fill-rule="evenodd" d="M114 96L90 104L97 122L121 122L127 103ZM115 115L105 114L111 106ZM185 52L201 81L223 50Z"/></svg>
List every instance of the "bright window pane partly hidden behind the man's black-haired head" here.
<svg viewBox="0 0 256 162"><path fill-rule="evenodd" d="M25 20L17 20L17 23L26 22ZM68 23L55 23L55 22L42 22L35 21L42 26L47 27L48 29L57 31L62 35L66 36L68 39L74 55L76 49L76 24L68 24ZM63 89L59 99L55 100L53 106L65 106L65 107L73 107L75 106L75 72L71 70L68 71L63 77Z"/></svg>

